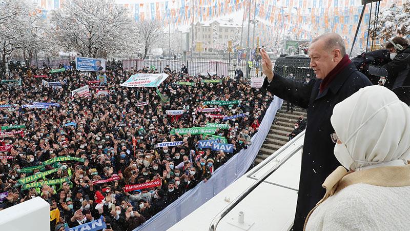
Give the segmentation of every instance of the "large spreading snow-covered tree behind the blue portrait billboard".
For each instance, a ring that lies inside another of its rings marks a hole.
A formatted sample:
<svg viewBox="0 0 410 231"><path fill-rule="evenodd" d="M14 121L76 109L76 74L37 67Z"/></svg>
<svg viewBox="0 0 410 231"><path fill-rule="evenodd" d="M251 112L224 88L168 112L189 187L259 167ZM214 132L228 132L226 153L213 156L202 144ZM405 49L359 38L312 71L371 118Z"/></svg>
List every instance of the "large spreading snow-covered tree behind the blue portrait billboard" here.
<svg viewBox="0 0 410 231"><path fill-rule="evenodd" d="M132 50L134 21L114 0L68 0L51 13L54 38L65 51L107 57Z"/></svg>

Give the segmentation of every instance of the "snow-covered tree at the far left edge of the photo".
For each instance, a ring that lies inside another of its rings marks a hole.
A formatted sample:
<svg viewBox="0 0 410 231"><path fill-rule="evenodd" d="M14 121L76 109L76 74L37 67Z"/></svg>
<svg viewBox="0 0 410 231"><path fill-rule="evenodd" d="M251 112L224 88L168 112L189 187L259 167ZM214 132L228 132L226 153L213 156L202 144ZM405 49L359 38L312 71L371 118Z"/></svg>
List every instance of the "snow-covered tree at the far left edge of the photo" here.
<svg viewBox="0 0 410 231"><path fill-rule="evenodd" d="M2 69L5 70L8 55L18 50L36 49L43 44L44 20L35 14L35 6L28 1L1 1L0 12L0 49Z"/></svg>

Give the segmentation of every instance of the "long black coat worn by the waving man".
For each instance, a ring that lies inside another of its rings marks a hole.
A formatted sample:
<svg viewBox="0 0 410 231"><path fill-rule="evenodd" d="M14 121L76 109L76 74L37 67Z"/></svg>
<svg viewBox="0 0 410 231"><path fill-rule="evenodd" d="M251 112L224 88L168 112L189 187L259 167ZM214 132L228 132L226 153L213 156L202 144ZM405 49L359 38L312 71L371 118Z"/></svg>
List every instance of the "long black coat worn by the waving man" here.
<svg viewBox="0 0 410 231"><path fill-rule="evenodd" d="M306 215L324 195L321 183L340 165L333 155L335 144L331 139L334 132L330 122L333 107L360 88L372 85L352 63L319 93L321 82L320 79L312 79L304 84L275 73L272 82L265 78L262 86L277 97L308 109L294 230L303 229Z"/></svg>

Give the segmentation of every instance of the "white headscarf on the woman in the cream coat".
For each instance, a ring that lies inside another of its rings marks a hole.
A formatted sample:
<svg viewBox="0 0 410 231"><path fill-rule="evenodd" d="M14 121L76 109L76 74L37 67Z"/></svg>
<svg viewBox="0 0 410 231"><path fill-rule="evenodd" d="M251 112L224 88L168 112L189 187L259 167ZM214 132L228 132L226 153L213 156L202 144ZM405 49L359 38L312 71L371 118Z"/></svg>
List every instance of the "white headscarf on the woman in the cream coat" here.
<svg viewBox="0 0 410 231"><path fill-rule="evenodd" d="M342 142L335 156L347 169L410 157L410 108L385 87L362 88L338 103L331 123Z"/></svg>

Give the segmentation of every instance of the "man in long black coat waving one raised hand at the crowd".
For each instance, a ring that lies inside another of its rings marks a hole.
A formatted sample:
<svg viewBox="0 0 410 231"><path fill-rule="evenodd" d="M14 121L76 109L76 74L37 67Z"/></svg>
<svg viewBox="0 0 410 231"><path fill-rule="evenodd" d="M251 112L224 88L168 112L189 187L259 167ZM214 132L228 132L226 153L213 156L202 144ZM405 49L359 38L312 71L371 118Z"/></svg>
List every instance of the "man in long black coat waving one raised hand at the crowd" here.
<svg viewBox="0 0 410 231"><path fill-rule="evenodd" d="M333 107L372 83L348 59L342 37L335 33L320 35L310 46L310 66L316 77L308 84L283 78L272 72L268 54L261 51L265 78L262 88L277 97L308 109L303 144L298 203L293 230L302 230L309 211L323 197L322 182L340 164L333 155L335 144L330 118Z"/></svg>

